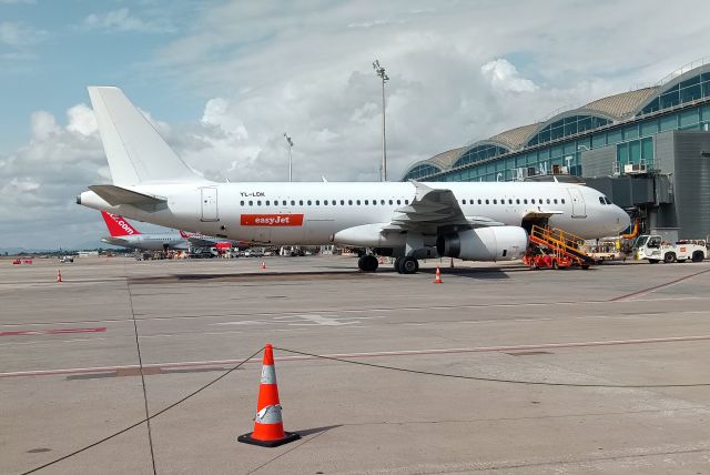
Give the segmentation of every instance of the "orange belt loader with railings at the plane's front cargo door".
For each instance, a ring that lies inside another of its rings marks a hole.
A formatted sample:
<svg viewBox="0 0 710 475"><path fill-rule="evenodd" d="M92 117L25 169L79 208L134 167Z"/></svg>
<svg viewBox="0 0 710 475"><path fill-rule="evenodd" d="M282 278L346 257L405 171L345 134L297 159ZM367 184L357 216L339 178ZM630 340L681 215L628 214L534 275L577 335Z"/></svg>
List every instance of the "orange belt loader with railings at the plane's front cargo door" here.
<svg viewBox="0 0 710 475"><path fill-rule="evenodd" d="M589 269L595 260L585 252L585 240L567 231L534 225L530 246L523 262L530 269L564 269L579 265Z"/></svg>

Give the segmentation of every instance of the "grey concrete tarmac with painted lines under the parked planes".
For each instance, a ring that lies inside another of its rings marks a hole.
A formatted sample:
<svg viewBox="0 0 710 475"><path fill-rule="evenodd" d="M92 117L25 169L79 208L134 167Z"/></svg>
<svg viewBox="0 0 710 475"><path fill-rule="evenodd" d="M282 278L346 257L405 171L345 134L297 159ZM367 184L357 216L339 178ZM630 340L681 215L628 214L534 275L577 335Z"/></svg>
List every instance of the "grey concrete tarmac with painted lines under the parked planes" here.
<svg viewBox="0 0 710 475"><path fill-rule="evenodd" d="M709 261L263 261L0 260L0 473L710 474Z"/></svg>

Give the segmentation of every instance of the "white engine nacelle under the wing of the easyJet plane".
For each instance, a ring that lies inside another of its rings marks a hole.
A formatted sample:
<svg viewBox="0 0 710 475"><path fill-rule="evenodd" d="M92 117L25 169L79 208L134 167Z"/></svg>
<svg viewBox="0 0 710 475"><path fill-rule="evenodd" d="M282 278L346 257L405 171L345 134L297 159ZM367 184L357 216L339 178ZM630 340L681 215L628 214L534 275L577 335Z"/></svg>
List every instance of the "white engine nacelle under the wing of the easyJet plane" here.
<svg viewBox="0 0 710 475"><path fill-rule="evenodd" d="M436 240L436 251L447 257L466 261L513 261L528 246L528 235L518 226L489 226L444 234Z"/></svg>

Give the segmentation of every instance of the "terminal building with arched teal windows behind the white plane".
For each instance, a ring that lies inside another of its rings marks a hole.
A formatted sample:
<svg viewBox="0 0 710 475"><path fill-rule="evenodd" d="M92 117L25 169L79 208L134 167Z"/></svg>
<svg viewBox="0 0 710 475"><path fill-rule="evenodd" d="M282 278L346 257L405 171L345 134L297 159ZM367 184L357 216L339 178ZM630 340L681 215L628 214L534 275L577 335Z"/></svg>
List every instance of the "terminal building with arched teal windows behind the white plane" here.
<svg viewBox="0 0 710 475"><path fill-rule="evenodd" d="M409 166L403 180L577 180L668 240L710 235L710 61ZM576 178L576 179L574 179Z"/></svg>

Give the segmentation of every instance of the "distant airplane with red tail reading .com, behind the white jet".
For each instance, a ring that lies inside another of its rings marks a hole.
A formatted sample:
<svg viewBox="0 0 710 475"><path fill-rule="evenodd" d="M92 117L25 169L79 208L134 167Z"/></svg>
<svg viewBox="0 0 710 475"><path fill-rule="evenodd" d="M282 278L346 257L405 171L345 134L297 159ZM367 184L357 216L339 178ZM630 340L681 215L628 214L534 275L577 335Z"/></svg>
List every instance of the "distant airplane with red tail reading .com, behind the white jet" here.
<svg viewBox="0 0 710 475"><path fill-rule="evenodd" d="M191 247L214 247L220 254L225 253L233 246L239 246L239 243L232 241L215 240L184 231L143 234L124 220L123 216L106 211L101 211L101 216L111 234L111 236L102 238L101 242L111 245L141 251L189 251Z"/></svg>

